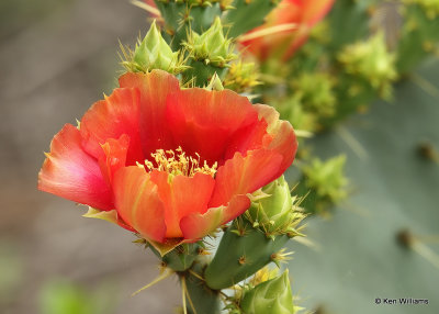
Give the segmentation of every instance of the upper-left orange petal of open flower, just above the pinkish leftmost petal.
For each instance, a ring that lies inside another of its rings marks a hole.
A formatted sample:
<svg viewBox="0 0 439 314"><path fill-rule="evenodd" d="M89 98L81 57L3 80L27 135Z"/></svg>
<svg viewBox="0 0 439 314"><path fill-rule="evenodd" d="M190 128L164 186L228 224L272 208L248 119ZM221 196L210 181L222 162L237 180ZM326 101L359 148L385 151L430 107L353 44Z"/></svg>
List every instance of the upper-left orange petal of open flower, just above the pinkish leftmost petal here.
<svg viewBox="0 0 439 314"><path fill-rule="evenodd" d="M139 96L136 89L115 89L105 100L94 103L83 115L80 124L85 149L99 158L108 138L130 136L126 156L128 165L144 160L139 128Z"/></svg>

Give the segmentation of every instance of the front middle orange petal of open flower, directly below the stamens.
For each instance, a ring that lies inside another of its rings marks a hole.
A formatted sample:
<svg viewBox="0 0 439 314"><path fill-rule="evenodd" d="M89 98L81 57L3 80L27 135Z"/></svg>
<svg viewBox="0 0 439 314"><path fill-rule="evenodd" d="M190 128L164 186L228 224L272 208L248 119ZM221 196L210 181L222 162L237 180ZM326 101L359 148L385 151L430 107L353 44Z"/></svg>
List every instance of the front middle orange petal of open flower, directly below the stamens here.
<svg viewBox="0 0 439 314"><path fill-rule="evenodd" d="M153 171L151 181L158 187L158 193L165 204L166 237L182 237L180 220L193 213L204 214L211 200L215 180L198 172L192 178L185 176L169 177L168 172Z"/></svg>

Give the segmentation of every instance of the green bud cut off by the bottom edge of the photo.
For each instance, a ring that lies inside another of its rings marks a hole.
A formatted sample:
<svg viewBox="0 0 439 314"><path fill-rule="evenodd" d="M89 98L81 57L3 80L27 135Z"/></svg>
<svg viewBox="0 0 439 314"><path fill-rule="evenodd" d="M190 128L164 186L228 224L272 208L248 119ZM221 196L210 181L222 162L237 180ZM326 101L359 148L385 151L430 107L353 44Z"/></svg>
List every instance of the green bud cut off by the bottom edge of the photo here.
<svg viewBox="0 0 439 314"><path fill-rule="evenodd" d="M278 278L246 291L240 302L243 314L293 314L293 294L288 269Z"/></svg>

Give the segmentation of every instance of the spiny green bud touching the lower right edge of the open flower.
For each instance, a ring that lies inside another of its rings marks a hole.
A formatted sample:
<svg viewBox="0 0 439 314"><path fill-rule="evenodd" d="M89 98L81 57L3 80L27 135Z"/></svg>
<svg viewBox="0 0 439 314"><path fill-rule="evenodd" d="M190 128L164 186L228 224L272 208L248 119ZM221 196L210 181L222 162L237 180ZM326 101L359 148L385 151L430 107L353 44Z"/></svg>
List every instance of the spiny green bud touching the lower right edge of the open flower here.
<svg viewBox="0 0 439 314"><path fill-rule="evenodd" d="M266 236L274 238L277 235L300 235L295 229L304 215L295 210L291 191L284 177L267 184L251 197L250 209L245 217L255 228L260 228Z"/></svg>

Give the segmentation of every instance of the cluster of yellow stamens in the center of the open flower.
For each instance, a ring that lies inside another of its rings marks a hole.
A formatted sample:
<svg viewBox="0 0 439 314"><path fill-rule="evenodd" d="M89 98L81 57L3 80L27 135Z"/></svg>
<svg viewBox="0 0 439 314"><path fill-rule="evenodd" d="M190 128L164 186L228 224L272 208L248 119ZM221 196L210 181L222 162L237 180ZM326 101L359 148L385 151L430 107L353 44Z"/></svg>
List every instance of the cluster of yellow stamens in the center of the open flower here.
<svg viewBox="0 0 439 314"><path fill-rule="evenodd" d="M212 167L204 160L203 165L200 161L200 155L195 153L196 158L187 156L183 149L179 146L176 152L172 149L164 150L157 149L156 153L151 154L154 161L145 160L145 166L137 162L137 166L148 170L166 171L173 176L182 175L187 177L193 177L196 172L202 172L214 177L218 168L218 162L215 162Z"/></svg>

